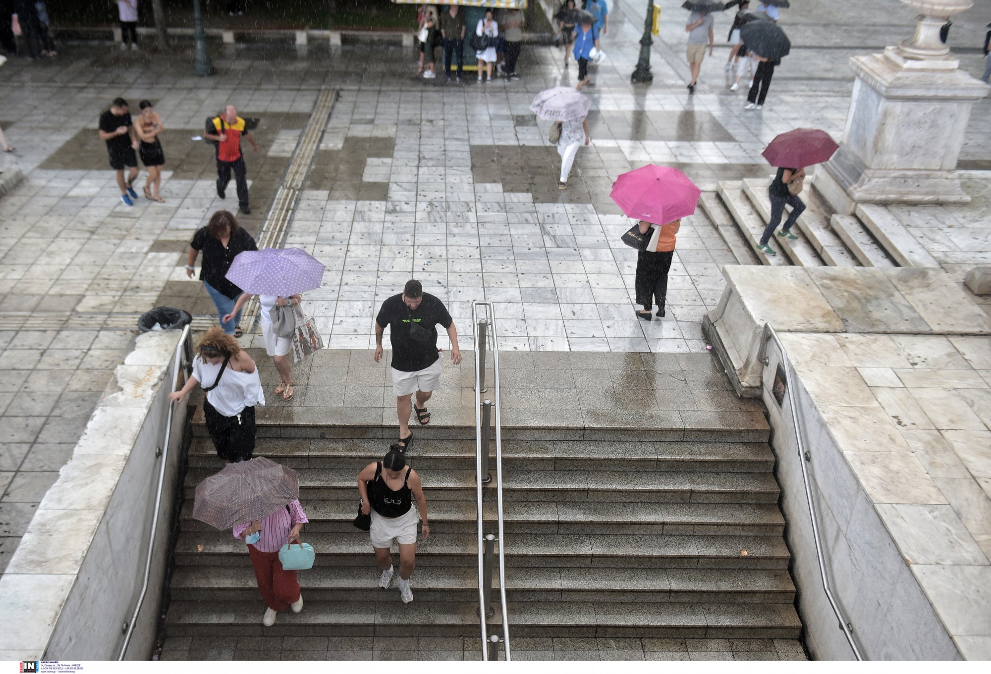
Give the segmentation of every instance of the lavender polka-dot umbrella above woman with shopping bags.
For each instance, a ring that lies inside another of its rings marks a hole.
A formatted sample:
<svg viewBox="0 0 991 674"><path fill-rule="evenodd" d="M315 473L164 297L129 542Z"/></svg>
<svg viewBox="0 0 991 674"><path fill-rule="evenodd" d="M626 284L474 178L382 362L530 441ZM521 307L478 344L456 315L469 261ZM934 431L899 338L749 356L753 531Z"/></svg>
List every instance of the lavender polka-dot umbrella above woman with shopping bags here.
<svg viewBox="0 0 991 674"><path fill-rule="evenodd" d="M224 278L251 294L288 297L320 287L325 269L298 248L267 248L238 253Z"/></svg>

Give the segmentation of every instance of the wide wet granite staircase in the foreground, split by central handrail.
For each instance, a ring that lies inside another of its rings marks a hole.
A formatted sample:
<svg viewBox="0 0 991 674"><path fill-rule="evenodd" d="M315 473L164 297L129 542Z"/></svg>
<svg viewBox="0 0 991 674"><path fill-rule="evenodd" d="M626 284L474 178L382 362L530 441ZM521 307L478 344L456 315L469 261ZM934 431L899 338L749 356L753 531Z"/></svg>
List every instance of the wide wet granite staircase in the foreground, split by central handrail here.
<svg viewBox="0 0 991 674"><path fill-rule="evenodd" d="M335 430L358 437L318 437ZM647 437L663 437L652 430ZM417 437L410 452L432 532L418 546L414 601L403 605L394 588L379 589L368 534L351 524L355 476L384 454L386 441L369 437L383 429L265 430L281 436L260 437L256 456L299 471L304 539L318 554L300 574L303 612L263 627L244 543L191 518L196 485L220 467L194 423L166 644L188 635L477 636L475 446L458 439L474 431L432 431L449 439ZM516 636L798 638L766 424L712 431L707 442L513 431L520 439L503 441L503 489Z"/></svg>

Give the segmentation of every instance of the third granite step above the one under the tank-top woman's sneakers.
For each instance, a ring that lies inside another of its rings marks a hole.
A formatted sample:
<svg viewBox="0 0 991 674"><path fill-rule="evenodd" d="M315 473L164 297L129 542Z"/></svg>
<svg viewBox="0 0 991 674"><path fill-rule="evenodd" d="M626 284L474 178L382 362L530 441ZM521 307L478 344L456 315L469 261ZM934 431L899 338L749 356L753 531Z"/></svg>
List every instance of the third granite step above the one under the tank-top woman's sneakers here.
<svg viewBox="0 0 991 674"><path fill-rule="evenodd" d="M416 467L416 460L410 459ZM191 468L185 496L218 471ZM301 468L299 497L304 500L352 502L358 498L356 471ZM432 470L421 476L431 501L468 501L475 498L475 471ZM516 502L629 502L698 504L777 504L778 483L769 473L654 473L648 471L502 471L502 491ZM495 481L486 488L495 498Z"/></svg>

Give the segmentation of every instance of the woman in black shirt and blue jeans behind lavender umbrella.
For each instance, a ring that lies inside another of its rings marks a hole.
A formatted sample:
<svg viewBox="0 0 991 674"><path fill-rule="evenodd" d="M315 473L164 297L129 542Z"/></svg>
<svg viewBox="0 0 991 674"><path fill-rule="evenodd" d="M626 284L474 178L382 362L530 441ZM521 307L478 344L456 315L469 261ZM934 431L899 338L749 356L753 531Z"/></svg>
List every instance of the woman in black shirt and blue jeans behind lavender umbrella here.
<svg viewBox="0 0 991 674"><path fill-rule="evenodd" d="M231 320L225 321L224 316L231 313L234 303L244 290L227 281L227 270L231 268L238 253L257 250L255 239L238 226L237 219L230 211L214 213L206 227L200 227L189 244L186 276L192 279L196 272L196 256L203 251L203 268L199 271L199 280L203 281L203 286L217 307L220 326L224 332L235 337L241 336L241 312L236 312Z"/></svg>

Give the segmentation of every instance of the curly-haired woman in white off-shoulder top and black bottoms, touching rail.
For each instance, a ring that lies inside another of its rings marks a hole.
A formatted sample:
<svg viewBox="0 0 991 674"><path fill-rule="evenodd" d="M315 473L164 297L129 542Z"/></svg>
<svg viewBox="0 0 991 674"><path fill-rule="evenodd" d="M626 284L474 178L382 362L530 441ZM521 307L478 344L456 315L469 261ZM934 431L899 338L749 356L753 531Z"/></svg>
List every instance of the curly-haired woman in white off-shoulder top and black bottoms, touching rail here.
<svg viewBox="0 0 991 674"><path fill-rule="evenodd" d="M169 393L169 401L181 401L197 384L206 392L203 415L217 456L224 463L251 460L255 453L255 405L265 404L262 380L255 361L219 326L203 336L192 361L192 376L181 391Z"/></svg>

